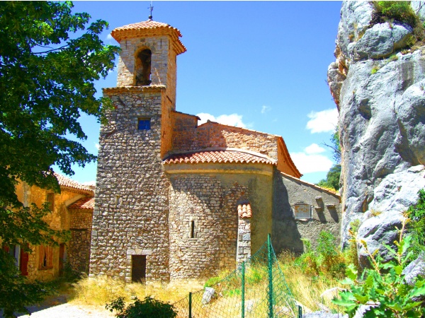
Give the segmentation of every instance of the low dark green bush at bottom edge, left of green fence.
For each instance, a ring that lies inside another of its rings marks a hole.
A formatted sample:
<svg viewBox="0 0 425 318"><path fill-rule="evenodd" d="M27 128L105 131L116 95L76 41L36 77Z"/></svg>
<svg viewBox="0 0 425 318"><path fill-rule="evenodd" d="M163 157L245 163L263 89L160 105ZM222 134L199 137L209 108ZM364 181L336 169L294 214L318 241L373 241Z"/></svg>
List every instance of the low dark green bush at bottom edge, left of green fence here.
<svg viewBox="0 0 425 318"><path fill-rule="evenodd" d="M118 297L111 304L106 304L106 309L117 313L117 318L174 318L177 316L174 305L155 300L150 296L141 301L137 298L135 302L125 307L124 298Z"/></svg>

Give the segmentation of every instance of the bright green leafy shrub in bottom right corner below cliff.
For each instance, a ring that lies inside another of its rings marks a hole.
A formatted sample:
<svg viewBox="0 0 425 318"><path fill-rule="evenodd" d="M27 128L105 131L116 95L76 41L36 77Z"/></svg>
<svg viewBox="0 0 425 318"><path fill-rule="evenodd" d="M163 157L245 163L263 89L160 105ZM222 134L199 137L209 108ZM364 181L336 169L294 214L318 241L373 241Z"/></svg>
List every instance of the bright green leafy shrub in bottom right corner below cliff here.
<svg viewBox="0 0 425 318"><path fill-rule="evenodd" d="M399 240L395 241L397 251L384 245L392 254L392 261L382 263L379 257L370 254L366 242L360 242L369 254L373 269L365 269L358 278L356 267L349 265L342 282L347 289L339 293L340 299L333 300L346 308L348 317L353 317L361 305L371 305L364 317L424 317L425 309L417 298L425 295L425 279L418 276L414 285L408 285L402 273L412 254L408 252L412 237L402 235L405 222L399 230Z"/></svg>

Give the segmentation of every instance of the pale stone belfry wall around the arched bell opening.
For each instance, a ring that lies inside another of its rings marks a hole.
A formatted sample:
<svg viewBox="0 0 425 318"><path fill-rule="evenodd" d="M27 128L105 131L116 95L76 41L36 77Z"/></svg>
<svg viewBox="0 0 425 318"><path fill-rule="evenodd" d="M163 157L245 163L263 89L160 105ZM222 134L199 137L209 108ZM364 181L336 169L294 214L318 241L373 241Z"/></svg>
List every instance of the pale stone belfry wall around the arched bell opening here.
<svg viewBox="0 0 425 318"><path fill-rule="evenodd" d="M135 85L135 54L140 49L150 49L152 52L151 61L151 81L152 85L174 86L174 93L171 90L170 98L175 104L175 78L169 75L170 81L167 83L167 72L176 72L176 66L169 69L169 37L166 35L157 37L143 37L122 40L120 42L120 57L118 59L118 79L117 86L134 86ZM174 54L175 55L175 54ZM174 60L174 59L173 59Z"/></svg>

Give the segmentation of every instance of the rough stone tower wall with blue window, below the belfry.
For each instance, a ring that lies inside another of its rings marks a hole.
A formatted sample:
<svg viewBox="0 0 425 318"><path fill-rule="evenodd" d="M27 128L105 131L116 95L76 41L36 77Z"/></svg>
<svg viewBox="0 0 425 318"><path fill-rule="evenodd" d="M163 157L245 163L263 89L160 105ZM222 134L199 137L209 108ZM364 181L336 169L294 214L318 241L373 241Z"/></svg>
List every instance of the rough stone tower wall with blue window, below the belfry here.
<svg viewBox="0 0 425 318"><path fill-rule="evenodd" d="M153 55L152 55L153 56ZM168 189L161 161L164 93L117 93L101 126L90 275L131 281L131 254L147 255L147 280L169 280ZM137 119L149 117L150 130Z"/></svg>

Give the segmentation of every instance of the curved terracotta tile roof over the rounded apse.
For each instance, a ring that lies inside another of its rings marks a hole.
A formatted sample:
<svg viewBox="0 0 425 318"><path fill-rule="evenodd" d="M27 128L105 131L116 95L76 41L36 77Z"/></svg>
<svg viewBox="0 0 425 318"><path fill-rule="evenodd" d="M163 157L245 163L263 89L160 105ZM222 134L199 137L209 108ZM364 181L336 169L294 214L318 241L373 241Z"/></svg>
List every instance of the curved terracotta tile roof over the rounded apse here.
<svg viewBox="0 0 425 318"><path fill-rule="evenodd" d="M246 153L243 151L197 151L194 153L179 153L164 159L164 164L171 163L266 163L276 165L271 159Z"/></svg>

